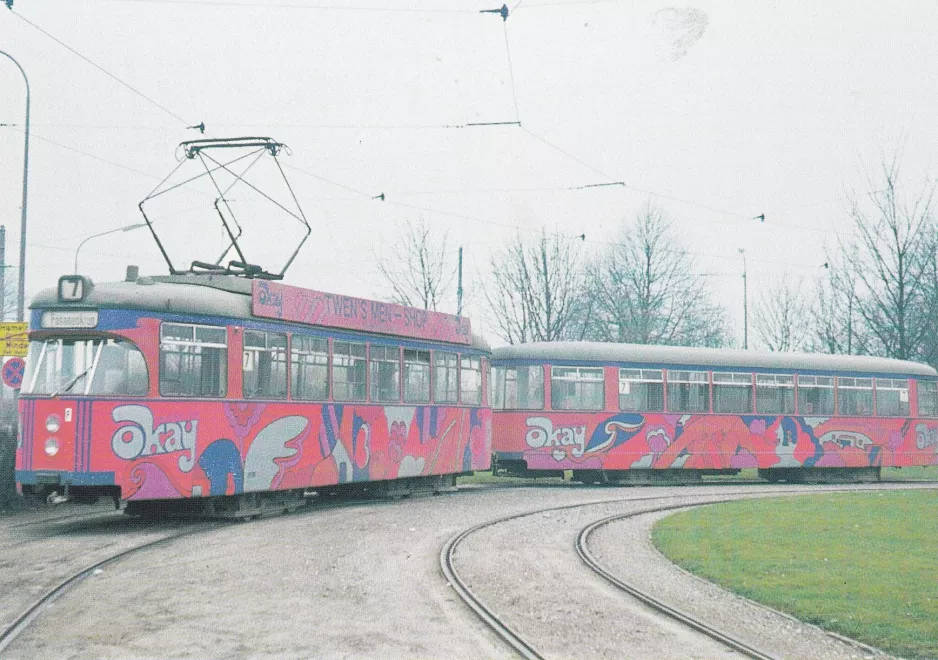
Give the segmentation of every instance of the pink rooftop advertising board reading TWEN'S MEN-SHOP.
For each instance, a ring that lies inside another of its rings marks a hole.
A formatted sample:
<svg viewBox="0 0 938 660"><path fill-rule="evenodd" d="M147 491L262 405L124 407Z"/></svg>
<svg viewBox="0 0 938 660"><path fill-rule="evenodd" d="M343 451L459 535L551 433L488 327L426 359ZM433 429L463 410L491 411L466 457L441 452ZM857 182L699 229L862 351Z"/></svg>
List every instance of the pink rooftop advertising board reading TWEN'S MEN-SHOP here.
<svg viewBox="0 0 938 660"><path fill-rule="evenodd" d="M264 318L415 339L469 344L469 319L395 303L254 280L252 310Z"/></svg>

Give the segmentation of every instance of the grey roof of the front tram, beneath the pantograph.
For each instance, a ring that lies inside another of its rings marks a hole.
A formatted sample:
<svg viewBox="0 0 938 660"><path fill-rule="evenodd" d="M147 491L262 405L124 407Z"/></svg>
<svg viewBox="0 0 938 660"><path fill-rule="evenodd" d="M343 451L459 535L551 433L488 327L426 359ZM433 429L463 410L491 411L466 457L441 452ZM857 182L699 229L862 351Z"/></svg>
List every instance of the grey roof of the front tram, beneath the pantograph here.
<svg viewBox="0 0 938 660"><path fill-rule="evenodd" d="M40 291L30 302L30 309L134 309L170 314L221 316L234 319L252 319L265 323L276 320L253 314L251 280L231 275L182 274L139 277L134 281L95 283L81 302L63 302L56 288ZM301 323L285 325L303 325ZM324 327L324 326L316 326ZM337 328L336 330L343 330ZM347 331L347 329L345 330ZM356 331L357 332L357 331ZM363 334L372 334L364 332ZM407 338L410 341L427 341ZM484 337L472 334L471 346L489 350Z"/></svg>

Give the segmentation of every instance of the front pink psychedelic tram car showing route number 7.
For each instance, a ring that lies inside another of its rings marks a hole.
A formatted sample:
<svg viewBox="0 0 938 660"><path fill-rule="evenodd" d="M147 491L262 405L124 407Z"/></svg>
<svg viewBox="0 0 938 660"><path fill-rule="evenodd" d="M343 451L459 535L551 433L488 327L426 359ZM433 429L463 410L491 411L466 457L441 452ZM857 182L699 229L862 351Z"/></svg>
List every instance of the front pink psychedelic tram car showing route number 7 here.
<svg viewBox="0 0 938 660"><path fill-rule="evenodd" d="M94 285L30 306L24 495L215 515L303 492L392 495L486 470L489 349L468 319L225 274Z"/></svg>

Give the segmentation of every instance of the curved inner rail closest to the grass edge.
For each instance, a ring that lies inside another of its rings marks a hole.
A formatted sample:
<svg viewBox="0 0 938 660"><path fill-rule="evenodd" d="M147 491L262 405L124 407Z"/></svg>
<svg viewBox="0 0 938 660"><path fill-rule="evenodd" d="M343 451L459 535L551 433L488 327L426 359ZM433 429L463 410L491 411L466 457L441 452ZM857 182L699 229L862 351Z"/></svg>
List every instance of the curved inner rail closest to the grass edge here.
<svg viewBox="0 0 938 660"><path fill-rule="evenodd" d="M728 499L716 500L716 501L706 502L706 504L720 504L722 502L729 502L729 501L731 500L728 500ZM582 530L580 530L580 533L577 534L576 542L574 544L576 547L577 554L580 556L580 559L583 560L584 564L586 564L597 575L601 576L603 579L609 582L609 584L624 591L625 593L629 594L633 598L641 601L642 603L652 608L653 610L660 612L666 616L669 616L672 619L684 624L685 626L688 626L689 628L693 628L697 632L703 633L707 637L710 637L711 639L714 639L720 642L721 644L725 644L726 646L750 658L756 658L756 660L776 660L775 656L770 655L764 651L761 651L755 648L754 646L750 646L746 642L740 639L737 639L736 637L733 637L732 635L729 635L717 628L714 628L713 626L710 626L704 623L700 619L694 618L693 616L691 616L690 614L686 612L682 612L681 610L675 607L671 607L670 605L664 603L663 601L658 600L657 598L655 598L648 592L642 591L635 585L629 584L628 582L625 582L617 578L615 575L613 575L608 570L603 568L602 565L600 565L600 563L596 561L596 558L589 551L588 544L589 544L590 534L592 534L594 531L596 531L600 527L608 525L609 523L612 523L612 522L616 522L619 520L627 520L629 518L635 518L637 516L645 515L648 513L671 511L675 509L686 509L688 508L688 506L697 506L697 505L693 505L693 504L676 505L675 504L675 505L670 505L670 506L661 506L661 507L656 507L653 509L646 509L643 511L633 511L632 513L617 514L614 516L609 516L608 518L603 518L602 520L597 520L596 522L584 527Z"/></svg>

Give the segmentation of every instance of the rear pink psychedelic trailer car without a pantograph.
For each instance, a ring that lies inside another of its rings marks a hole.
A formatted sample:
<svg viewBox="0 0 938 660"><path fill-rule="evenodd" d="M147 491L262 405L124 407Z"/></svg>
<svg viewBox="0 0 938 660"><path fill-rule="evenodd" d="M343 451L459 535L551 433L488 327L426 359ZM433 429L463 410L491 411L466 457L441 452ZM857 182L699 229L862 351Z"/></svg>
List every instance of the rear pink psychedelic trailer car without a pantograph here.
<svg viewBox="0 0 938 660"><path fill-rule="evenodd" d="M938 464L938 372L915 362L545 342L496 348L492 367L498 474L869 481Z"/></svg>

